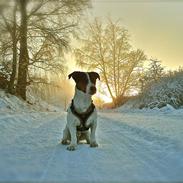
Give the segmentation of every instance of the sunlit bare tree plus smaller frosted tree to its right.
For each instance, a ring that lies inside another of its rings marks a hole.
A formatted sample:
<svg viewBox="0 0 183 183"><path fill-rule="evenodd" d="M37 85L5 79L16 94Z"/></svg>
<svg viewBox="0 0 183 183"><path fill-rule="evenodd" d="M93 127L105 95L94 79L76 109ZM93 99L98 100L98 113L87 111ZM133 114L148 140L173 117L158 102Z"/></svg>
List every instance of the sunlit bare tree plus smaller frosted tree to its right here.
<svg viewBox="0 0 183 183"><path fill-rule="evenodd" d="M75 56L79 66L100 72L114 106L121 105L134 92L142 92L148 82L163 74L160 61L134 48L128 30L111 19L102 22L96 18L86 26ZM147 62L149 66L145 67Z"/></svg>

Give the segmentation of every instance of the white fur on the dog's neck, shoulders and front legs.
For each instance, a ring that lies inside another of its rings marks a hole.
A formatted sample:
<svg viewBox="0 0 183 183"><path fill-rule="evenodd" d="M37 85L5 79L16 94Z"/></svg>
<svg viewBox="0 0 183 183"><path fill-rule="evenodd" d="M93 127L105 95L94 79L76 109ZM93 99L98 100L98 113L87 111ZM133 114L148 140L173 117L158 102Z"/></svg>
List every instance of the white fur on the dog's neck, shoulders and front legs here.
<svg viewBox="0 0 183 183"><path fill-rule="evenodd" d="M91 84L91 83L89 83ZM78 113L85 112L88 107L91 105L92 98L88 93L84 93L77 88L75 88L74 95L74 107ZM70 145L67 147L68 150L75 150L77 147L77 130L76 127L80 125L80 120L73 115L71 112L70 106L67 110L67 124L64 129L62 143L66 144L67 140L71 140ZM90 117L86 121L86 127L90 126L90 146L97 147L98 144L95 139L95 131L97 127L97 112L96 109L90 115ZM89 132L88 132L89 133Z"/></svg>

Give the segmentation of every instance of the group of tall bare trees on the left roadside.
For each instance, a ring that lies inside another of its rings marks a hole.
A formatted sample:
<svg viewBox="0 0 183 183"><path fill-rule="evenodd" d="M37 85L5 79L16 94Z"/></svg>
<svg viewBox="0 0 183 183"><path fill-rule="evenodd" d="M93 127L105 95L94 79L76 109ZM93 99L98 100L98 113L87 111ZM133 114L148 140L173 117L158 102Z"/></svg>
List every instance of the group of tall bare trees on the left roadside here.
<svg viewBox="0 0 183 183"><path fill-rule="evenodd" d="M89 0L1 1L0 87L26 100L27 86L63 74L64 53L89 6Z"/></svg>

